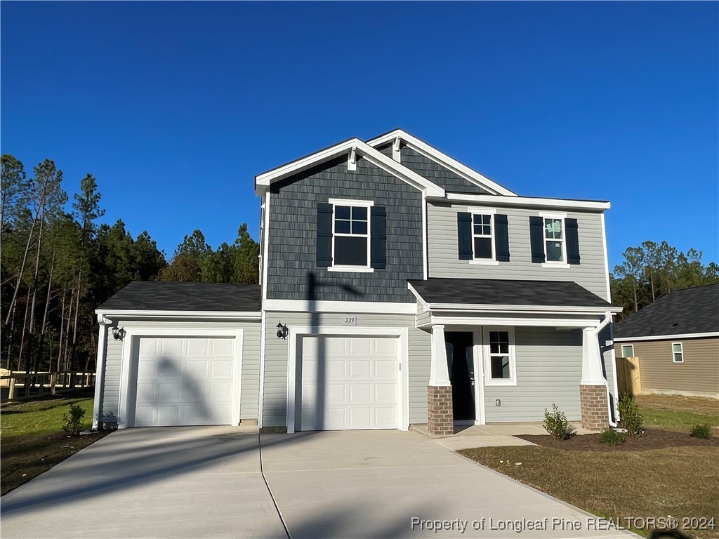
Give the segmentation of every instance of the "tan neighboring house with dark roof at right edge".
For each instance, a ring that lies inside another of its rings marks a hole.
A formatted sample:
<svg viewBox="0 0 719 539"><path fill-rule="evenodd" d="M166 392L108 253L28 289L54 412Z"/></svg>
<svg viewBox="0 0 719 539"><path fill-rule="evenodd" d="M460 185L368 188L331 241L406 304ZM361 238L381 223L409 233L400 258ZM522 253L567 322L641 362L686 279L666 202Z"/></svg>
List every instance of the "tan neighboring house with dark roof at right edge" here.
<svg viewBox="0 0 719 539"><path fill-rule="evenodd" d="M719 398L719 284L673 290L615 326L641 391Z"/></svg>

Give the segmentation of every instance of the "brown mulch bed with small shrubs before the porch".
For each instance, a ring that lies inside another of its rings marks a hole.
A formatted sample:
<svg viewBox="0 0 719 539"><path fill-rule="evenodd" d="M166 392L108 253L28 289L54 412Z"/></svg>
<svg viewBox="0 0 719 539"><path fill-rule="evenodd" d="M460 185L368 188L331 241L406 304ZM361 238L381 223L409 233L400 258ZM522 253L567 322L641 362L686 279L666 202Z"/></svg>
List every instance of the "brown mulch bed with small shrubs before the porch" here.
<svg viewBox="0 0 719 539"><path fill-rule="evenodd" d="M582 434L572 436L569 440L555 440L549 434L516 436L523 440L536 443L538 446L564 449L566 451L648 451L667 447L686 446L719 446L719 438L694 438L687 433L672 430L646 429L641 436L627 436L619 446L608 446L599 443L599 434Z"/></svg>

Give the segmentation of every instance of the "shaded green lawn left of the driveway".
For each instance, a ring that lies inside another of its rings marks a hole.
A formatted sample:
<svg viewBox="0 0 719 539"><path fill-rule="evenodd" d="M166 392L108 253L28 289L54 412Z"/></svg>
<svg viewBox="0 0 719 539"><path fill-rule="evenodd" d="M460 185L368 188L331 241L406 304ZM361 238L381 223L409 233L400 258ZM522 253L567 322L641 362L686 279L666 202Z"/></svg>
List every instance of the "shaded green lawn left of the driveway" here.
<svg viewBox="0 0 719 539"><path fill-rule="evenodd" d="M10 402L0 408L0 495L27 483L107 434L73 437L63 431L63 414L69 413L71 404L83 407L83 429L91 428L93 399L88 395L91 391L82 390L32 402Z"/></svg>

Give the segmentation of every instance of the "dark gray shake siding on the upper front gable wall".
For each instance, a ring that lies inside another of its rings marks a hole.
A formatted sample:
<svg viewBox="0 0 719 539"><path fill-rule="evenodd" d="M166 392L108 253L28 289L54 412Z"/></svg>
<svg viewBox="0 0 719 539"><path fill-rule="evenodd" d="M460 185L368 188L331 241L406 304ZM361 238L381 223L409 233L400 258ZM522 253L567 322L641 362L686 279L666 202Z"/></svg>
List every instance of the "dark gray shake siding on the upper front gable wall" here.
<svg viewBox="0 0 719 539"><path fill-rule="evenodd" d="M317 203L329 198L374 201L386 217L386 267L373 273L328 272L316 263ZM411 303L408 279L423 276L422 195L389 172L347 157L274 184L267 234L267 298L306 300L310 274L317 300Z"/></svg>

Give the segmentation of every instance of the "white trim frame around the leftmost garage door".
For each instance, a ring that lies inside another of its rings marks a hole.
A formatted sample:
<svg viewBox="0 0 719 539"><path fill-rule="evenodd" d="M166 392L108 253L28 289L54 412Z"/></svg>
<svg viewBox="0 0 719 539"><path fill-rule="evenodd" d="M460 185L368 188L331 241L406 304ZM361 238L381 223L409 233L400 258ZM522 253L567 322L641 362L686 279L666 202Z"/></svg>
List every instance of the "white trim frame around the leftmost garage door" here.
<svg viewBox="0 0 719 539"><path fill-rule="evenodd" d="M127 428L134 426L134 404L130 402L130 395L134 395L137 387L131 388L133 382L137 386L137 368L132 365L134 351L137 349L140 337L234 337L235 372L232 383L232 425L239 425L240 402L242 402L242 341L244 331L239 328L232 329L188 329L188 328L127 328L122 341L122 366L120 369L119 404L117 408L117 427ZM137 396L134 397L137 400ZM132 424L130 424L132 423Z"/></svg>

